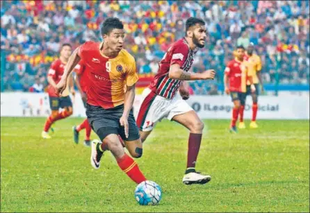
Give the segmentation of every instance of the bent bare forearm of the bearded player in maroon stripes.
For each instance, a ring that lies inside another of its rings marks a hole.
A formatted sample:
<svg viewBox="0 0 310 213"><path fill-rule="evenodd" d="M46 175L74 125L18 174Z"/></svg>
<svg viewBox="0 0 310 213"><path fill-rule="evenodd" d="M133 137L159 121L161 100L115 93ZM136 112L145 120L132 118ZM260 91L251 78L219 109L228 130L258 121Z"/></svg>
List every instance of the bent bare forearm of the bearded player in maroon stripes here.
<svg viewBox="0 0 310 213"><path fill-rule="evenodd" d="M214 77L215 77L214 69L209 69L198 74L183 71L183 69L181 69L179 64L170 65L169 69L169 78L178 80L206 80L206 79L213 79Z"/></svg>

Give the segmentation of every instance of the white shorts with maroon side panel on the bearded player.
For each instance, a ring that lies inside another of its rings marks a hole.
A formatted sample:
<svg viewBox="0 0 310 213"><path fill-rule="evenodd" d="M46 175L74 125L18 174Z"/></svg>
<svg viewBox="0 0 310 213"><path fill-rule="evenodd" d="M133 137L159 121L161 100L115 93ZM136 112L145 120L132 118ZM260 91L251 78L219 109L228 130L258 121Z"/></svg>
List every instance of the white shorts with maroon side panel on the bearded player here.
<svg viewBox="0 0 310 213"><path fill-rule="evenodd" d="M167 118L170 121L177 114L184 114L193 110L179 93L173 99L166 99L156 95L152 90L146 88L142 92L142 100L137 117L138 128L142 131L150 131L158 121Z"/></svg>

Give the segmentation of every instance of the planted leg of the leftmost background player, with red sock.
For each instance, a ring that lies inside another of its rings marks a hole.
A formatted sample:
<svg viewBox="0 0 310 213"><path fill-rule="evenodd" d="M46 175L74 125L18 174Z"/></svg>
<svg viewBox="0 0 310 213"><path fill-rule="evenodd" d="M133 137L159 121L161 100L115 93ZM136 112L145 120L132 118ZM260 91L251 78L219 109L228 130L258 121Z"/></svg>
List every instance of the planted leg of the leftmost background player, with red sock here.
<svg viewBox="0 0 310 213"><path fill-rule="evenodd" d="M41 136L44 139L49 139L51 136L49 135L49 128L51 128L51 124L53 124L58 119L58 109L59 109L59 98L49 96L49 106L51 108L51 114L47 117L45 121L44 128Z"/></svg>

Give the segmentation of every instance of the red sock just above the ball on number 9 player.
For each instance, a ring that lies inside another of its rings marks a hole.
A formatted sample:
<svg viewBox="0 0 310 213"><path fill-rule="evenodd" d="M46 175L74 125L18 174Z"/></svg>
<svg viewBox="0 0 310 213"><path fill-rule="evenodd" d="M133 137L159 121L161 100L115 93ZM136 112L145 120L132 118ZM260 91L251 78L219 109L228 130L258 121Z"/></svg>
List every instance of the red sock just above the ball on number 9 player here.
<svg viewBox="0 0 310 213"><path fill-rule="evenodd" d="M137 184L147 180L140 171L138 164L126 153L122 157L117 159L117 164L120 169L122 169L122 171L124 171L124 173L126 173L127 176L129 176L129 178L131 178L131 180L133 180Z"/></svg>

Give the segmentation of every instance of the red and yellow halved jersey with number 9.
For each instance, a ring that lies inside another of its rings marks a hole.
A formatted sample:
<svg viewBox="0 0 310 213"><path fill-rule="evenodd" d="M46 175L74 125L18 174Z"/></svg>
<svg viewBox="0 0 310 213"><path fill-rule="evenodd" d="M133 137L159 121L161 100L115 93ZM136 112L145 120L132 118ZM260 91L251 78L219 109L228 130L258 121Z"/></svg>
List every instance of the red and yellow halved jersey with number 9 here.
<svg viewBox="0 0 310 213"><path fill-rule="evenodd" d="M103 43L85 42L79 47L79 56L88 78L86 94L88 104L101 108L114 108L124 103L124 87L138 81L136 61L122 49L115 58L101 53Z"/></svg>

